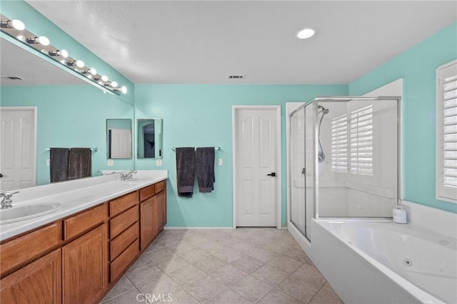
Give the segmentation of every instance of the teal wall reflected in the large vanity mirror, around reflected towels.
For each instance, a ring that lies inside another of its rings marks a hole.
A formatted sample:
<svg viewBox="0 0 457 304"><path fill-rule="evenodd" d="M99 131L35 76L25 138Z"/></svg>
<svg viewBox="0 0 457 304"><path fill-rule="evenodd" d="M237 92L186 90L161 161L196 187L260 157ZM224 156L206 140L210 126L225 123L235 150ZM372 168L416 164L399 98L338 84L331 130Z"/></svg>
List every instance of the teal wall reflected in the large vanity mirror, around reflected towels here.
<svg viewBox="0 0 457 304"><path fill-rule="evenodd" d="M36 182L49 183L49 147L98 147L92 176L101 169L131 169L134 159L106 164L106 119L134 118L134 107L91 85L1 86L1 106L36 106Z"/></svg>

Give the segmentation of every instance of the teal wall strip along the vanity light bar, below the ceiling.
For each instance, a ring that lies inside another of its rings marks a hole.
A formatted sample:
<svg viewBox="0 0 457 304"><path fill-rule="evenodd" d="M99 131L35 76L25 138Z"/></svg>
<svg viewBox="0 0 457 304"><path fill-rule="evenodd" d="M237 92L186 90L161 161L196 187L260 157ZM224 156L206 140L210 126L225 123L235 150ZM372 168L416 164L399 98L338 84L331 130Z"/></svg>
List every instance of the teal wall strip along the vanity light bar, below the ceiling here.
<svg viewBox="0 0 457 304"><path fill-rule="evenodd" d="M97 73L100 75L107 75L109 80L116 80L119 85L125 85L128 90L127 93L121 94L117 98L120 98L132 105L134 104L134 83L132 83L117 70L112 68L111 65L102 61L101 58L97 57L94 53L89 51L85 46L81 45L81 43L69 36L69 34L67 34L65 31L62 31L61 28L49 21L49 19L47 19L45 16L41 15L39 11L36 11L36 9L26 3L26 1L2 0L0 1L0 10L1 14L8 17L9 19L19 19L24 22L26 25L26 30L34 33L36 36L46 36L49 38L52 46L55 46L59 49L65 49L69 52L69 56L71 58L82 60L86 66L96 68ZM36 51L34 48L30 48L26 45L26 43L20 43L17 39L10 38L3 32L0 33L0 37L6 38L7 40L14 42L14 44L35 53L36 56L39 56L44 60L59 66L59 68L63 68L64 70L69 71L69 73L73 73L76 77L94 84L90 80L87 80L83 75L76 73L71 68L62 65L61 63L57 63L53 59L49 58L49 56Z"/></svg>

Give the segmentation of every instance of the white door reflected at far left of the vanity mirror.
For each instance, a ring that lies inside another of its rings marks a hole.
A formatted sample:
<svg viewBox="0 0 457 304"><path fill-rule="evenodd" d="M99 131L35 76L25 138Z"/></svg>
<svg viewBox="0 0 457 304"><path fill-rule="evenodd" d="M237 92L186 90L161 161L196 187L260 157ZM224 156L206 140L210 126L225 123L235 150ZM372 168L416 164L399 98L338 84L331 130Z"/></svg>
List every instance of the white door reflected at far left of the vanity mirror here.
<svg viewBox="0 0 457 304"><path fill-rule="evenodd" d="M36 108L0 108L0 190L36 184Z"/></svg>

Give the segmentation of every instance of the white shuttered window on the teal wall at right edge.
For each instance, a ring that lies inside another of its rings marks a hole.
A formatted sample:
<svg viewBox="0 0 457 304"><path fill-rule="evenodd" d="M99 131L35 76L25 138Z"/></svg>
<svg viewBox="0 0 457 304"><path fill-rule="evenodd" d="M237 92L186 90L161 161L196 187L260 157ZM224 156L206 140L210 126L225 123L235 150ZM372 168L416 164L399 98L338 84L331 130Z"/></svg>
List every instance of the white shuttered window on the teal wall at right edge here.
<svg viewBox="0 0 457 304"><path fill-rule="evenodd" d="M457 203L457 61L436 78L436 196Z"/></svg>

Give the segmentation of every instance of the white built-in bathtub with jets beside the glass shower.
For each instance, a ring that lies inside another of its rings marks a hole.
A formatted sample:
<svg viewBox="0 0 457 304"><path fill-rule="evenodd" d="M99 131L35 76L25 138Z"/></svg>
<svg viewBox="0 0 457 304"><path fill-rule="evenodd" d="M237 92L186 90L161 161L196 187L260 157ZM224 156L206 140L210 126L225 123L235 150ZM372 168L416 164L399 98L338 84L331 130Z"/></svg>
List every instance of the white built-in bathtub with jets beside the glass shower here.
<svg viewBox="0 0 457 304"><path fill-rule="evenodd" d="M311 229L311 259L345 303L457 303L456 239L383 219Z"/></svg>

